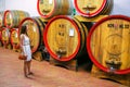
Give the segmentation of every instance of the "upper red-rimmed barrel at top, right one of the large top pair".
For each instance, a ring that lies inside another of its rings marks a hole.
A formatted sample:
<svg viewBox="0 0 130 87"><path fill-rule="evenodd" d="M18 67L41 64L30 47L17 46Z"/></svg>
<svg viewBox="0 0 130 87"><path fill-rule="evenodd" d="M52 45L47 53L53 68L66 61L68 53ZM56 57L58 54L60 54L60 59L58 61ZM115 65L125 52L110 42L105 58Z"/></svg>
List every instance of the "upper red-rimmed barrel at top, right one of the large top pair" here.
<svg viewBox="0 0 130 87"><path fill-rule="evenodd" d="M76 10L83 16L92 17L108 14L113 8L113 0L74 0Z"/></svg>

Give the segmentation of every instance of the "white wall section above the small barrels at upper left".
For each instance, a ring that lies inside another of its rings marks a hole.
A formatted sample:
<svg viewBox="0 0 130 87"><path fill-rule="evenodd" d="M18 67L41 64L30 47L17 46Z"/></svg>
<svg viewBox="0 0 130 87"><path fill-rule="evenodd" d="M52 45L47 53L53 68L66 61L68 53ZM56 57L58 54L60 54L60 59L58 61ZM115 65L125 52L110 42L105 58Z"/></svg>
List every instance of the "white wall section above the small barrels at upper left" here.
<svg viewBox="0 0 130 87"><path fill-rule="evenodd" d="M40 16L37 11L37 0L5 0L5 10L23 10L30 16Z"/></svg>

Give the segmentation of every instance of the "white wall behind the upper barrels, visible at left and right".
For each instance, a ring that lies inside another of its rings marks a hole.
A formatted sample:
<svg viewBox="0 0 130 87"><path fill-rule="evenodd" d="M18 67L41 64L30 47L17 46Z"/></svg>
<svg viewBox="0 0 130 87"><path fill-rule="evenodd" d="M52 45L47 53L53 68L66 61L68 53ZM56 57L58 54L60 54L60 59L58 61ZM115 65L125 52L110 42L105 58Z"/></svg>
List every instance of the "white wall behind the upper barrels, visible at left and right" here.
<svg viewBox="0 0 130 87"><path fill-rule="evenodd" d="M0 3L1 1L5 1L4 10L24 10L27 11L30 16L39 16L37 11L37 0L0 0ZM130 16L130 0L114 0L112 14Z"/></svg>

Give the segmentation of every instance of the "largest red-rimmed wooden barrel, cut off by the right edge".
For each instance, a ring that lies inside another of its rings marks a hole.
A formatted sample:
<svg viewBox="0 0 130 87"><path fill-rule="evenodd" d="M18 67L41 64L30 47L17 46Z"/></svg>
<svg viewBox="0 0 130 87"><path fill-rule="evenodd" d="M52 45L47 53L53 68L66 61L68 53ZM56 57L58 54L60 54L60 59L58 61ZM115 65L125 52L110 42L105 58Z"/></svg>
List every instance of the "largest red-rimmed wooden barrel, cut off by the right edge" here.
<svg viewBox="0 0 130 87"><path fill-rule="evenodd" d="M110 15L95 23L89 32L87 49L104 72L130 73L130 17Z"/></svg>

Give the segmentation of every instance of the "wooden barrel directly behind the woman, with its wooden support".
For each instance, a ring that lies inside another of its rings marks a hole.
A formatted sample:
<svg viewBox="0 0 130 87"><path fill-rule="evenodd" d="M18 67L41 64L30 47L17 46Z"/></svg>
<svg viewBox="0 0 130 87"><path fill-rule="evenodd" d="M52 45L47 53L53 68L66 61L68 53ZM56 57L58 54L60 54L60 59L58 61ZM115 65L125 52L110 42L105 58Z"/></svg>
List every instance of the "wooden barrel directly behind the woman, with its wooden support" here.
<svg viewBox="0 0 130 87"><path fill-rule="evenodd" d="M44 44L43 44L43 30L48 20L44 20L40 16L26 17L20 24L20 35L22 26L27 26L27 35L30 39L30 48L32 52L32 58L37 61L42 61L46 59L43 57Z"/></svg>

